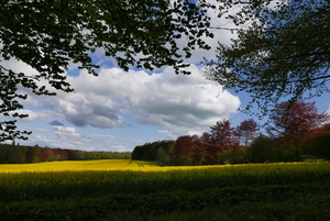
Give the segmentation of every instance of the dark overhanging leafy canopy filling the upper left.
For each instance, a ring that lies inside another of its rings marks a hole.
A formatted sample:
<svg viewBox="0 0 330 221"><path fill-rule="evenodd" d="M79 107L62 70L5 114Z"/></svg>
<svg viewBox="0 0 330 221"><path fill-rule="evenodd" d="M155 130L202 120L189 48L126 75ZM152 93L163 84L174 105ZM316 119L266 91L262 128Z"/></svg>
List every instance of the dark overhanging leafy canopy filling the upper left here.
<svg viewBox="0 0 330 221"><path fill-rule="evenodd" d="M207 29L205 0L199 4L189 0L1 0L0 3L0 114L20 114L20 91L28 88L36 95L53 96L54 90L41 86L46 82L66 92L73 91L66 81L68 65L97 75L98 65L91 55L101 48L113 57L119 67L153 69L174 66L183 71L184 58L191 49L210 47L201 36L212 37ZM184 46L178 38L185 37ZM179 53L179 52L183 53ZM4 60L25 63L37 75L15 73ZM0 141L25 139L15 120L0 121Z"/></svg>

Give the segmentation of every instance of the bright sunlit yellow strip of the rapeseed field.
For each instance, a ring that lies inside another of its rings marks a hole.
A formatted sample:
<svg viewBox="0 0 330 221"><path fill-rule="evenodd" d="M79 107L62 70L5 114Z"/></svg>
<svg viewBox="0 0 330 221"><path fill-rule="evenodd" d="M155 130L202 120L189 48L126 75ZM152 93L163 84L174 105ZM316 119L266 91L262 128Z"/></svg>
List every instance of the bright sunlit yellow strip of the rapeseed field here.
<svg viewBox="0 0 330 221"><path fill-rule="evenodd" d="M310 163L277 163L277 164L243 164L243 165L215 165L215 166L160 166L148 162L130 161L130 159L97 159L97 161L64 161L64 162L45 162L34 164L0 164L0 174L3 173L23 173L23 172L84 172L84 170L134 170L134 172L168 172L168 170L190 170L207 168L227 168L227 173L243 172L249 173L282 173L290 169L315 168L329 169L329 164L310 164ZM222 169L221 169L222 170ZM217 172L219 173L219 170Z"/></svg>

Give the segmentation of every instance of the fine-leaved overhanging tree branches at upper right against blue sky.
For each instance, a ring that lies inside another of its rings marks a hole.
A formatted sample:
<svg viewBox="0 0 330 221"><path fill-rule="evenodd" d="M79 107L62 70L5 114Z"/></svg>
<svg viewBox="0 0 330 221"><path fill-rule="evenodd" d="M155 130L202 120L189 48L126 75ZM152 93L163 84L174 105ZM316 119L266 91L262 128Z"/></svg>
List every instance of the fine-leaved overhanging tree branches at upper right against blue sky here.
<svg viewBox="0 0 330 221"><path fill-rule="evenodd" d="M208 78L252 97L262 114L282 98L298 100L329 92L329 0L224 0L220 14L237 37L219 45ZM227 13L231 9L235 13Z"/></svg>

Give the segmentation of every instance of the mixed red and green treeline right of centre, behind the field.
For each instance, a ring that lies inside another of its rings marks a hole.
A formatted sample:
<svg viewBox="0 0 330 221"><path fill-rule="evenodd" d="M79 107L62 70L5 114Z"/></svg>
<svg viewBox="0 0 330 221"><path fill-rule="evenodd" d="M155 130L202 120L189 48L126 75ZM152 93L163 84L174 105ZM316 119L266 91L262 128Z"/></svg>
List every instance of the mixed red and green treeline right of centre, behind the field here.
<svg viewBox="0 0 330 221"><path fill-rule="evenodd" d="M136 146L133 159L164 161L174 165L215 165L330 159L330 117L317 113L315 102L282 102L270 115L266 134L253 119L231 126L218 121L202 135L183 135ZM162 154L163 155L162 155ZM162 156L162 157L161 157Z"/></svg>

